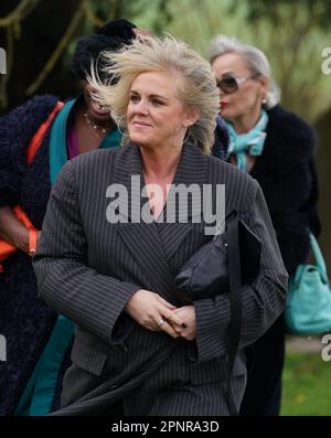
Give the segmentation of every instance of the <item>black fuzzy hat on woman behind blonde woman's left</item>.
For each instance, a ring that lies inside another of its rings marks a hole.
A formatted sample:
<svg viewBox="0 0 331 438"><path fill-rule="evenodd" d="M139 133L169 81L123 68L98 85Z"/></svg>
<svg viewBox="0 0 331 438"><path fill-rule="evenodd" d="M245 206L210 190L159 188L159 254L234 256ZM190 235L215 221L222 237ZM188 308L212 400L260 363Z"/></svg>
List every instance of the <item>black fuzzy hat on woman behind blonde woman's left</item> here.
<svg viewBox="0 0 331 438"><path fill-rule="evenodd" d="M128 20L110 21L95 33L79 38L72 62L72 70L79 79L85 79L90 70L90 61L96 61L105 50L117 51L135 40L135 24ZM98 75L104 81L103 63L97 60Z"/></svg>

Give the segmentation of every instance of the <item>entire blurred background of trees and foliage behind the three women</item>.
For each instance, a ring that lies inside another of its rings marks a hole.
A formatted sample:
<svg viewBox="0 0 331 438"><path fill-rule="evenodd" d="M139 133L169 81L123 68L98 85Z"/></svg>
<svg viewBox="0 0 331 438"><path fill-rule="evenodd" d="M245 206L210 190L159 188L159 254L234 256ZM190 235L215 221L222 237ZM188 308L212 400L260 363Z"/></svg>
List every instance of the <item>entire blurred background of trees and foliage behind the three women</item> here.
<svg viewBox="0 0 331 438"><path fill-rule="evenodd" d="M1 0L8 73L0 75L0 113L34 94L75 95L70 64L76 39L120 17L170 32L202 54L217 33L265 51L281 104L318 131L321 245L331 271L331 75L321 71L321 52L331 47L331 0Z"/></svg>

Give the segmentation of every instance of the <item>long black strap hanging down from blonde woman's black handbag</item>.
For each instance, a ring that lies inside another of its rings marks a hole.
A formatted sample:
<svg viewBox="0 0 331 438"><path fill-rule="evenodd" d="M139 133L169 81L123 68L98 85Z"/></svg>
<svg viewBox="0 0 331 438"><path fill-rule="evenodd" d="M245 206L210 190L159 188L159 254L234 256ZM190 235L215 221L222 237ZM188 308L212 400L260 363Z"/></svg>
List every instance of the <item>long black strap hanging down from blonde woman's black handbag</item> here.
<svg viewBox="0 0 331 438"><path fill-rule="evenodd" d="M238 214L234 212L234 217L227 224L227 242L228 242L228 277L229 277L229 349L227 354L227 378L226 378L226 398L232 416L238 415L232 392L231 377L235 364L239 339L242 332L242 268L241 268L241 250L238 238Z"/></svg>

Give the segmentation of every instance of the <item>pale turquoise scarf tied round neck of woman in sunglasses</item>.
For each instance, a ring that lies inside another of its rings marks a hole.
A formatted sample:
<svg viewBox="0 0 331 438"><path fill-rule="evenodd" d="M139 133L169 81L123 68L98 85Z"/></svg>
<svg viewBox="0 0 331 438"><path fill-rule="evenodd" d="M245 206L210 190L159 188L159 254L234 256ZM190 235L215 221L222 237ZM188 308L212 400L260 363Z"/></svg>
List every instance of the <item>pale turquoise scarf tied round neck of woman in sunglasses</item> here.
<svg viewBox="0 0 331 438"><path fill-rule="evenodd" d="M258 157L263 153L268 120L269 117L263 109L260 119L255 127L249 132L241 135L236 133L233 125L226 121L229 135L228 154L234 153L236 156L238 169L247 172L246 153L253 157Z"/></svg>

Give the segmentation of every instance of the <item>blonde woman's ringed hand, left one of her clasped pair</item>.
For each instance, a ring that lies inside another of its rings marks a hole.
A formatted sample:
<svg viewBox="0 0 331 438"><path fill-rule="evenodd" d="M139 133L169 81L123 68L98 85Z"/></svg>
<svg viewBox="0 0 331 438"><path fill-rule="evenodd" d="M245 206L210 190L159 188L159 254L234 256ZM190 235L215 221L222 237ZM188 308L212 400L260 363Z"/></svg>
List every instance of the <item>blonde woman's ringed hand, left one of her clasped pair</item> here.
<svg viewBox="0 0 331 438"><path fill-rule="evenodd" d="M183 321L175 314L175 309L158 293L146 289L137 290L125 307L125 311L145 329L179 338L173 327L181 325Z"/></svg>

